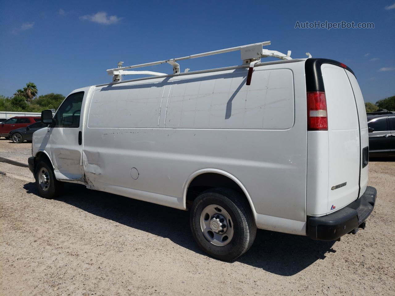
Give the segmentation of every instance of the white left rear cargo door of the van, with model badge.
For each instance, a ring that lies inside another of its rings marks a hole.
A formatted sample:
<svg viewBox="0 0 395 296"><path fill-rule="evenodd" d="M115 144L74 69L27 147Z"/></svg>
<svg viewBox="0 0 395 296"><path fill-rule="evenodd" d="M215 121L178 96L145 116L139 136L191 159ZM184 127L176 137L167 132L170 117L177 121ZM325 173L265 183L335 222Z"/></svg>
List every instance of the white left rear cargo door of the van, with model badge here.
<svg viewBox="0 0 395 296"><path fill-rule="evenodd" d="M346 71L322 64L328 118L329 176L327 212L358 198L361 165L359 119Z"/></svg>

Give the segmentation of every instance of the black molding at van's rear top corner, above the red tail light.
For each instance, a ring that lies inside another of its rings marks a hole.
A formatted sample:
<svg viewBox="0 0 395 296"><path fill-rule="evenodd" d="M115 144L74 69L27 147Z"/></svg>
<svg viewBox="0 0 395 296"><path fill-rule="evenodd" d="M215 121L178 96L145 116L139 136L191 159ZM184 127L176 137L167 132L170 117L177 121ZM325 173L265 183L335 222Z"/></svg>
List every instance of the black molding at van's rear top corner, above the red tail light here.
<svg viewBox="0 0 395 296"><path fill-rule="evenodd" d="M342 67L343 69L350 71L355 76L352 69L335 60L329 60L327 58L308 58L305 62L307 92L325 92L324 81L322 79L321 72L322 64L332 64Z"/></svg>

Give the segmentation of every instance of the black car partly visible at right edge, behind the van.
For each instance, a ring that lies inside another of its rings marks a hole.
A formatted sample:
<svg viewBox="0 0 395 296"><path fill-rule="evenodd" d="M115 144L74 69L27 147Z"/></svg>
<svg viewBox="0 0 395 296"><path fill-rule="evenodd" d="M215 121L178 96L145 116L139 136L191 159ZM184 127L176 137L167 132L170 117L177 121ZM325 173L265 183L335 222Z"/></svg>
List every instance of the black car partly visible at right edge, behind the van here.
<svg viewBox="0 0 395 296"><path fill-rule="evenodd" d="M395 156L395 114L368 115L367 119L369 156Z"/></svg>

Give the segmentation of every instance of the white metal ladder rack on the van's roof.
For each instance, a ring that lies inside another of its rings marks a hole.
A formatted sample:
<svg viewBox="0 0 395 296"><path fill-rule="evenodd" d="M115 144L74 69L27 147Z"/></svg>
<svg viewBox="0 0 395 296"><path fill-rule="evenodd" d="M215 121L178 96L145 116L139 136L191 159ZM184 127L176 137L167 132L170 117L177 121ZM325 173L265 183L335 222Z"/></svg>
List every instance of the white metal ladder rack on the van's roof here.
<svg viewBox="0 0 395 296"><path fill-rule="evenodd" d="M180 74L180 64L178 64L177 61L187 60L190 58L201 58L203 56L212 56L214 54L220 54L220 53L231 52L231 51L240 51L241 52L241 60L243 60L243 65L250 64L249 65L250 69L248 70L248 75L247 75L247 85L250 85L254 65L256 63L260 62L261 58L273 57L273 58L279 58L281 60L292 60L291 51L288 51L287 54L283 54L278 51L269 51L267 49L262 48L263 46L270 45L270 44L271 44L270 41L264 41L264 42L259 42L259 43L253 43L253 44L248 44L248 45L241 45L241 46L237 46L237 47L220 49L218 51L209 51L209 52L203 52L203 53L199 53L199 54L192 54L190 56L183 56L181 58L173 58L173 59L169 59L169 60L150 62L150 63L138 64L138 65L126 66L126 67L122 67L123 62L119 62L117 68L107 69L107 73L108 73L108 75L113 76L113 83L117 83L117 82L121 81L121 75L153 75L153 76L167 75L165 73L159 73L159 72L153 72L153 71L125 71L127 69L155 66L155 65L160 65L160 64L169 64L173 67L173 75L179 75ZM187 72L187 70L186 70L186 72Z"/></svg>

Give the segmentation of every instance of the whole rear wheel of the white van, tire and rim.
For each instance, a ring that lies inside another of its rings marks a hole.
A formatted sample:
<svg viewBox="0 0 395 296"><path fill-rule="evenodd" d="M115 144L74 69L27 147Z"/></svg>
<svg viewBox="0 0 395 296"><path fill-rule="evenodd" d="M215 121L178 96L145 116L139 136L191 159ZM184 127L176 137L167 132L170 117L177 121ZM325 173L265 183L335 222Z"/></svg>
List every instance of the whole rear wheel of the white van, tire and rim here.
<svg viewBox="0 0 395 296"><path fill-rule="evenodd" d="M199 195L192 204L190 226L199 247L225 261L243 255L256 235L248 203L228 188L209 189Z"/></svg>

